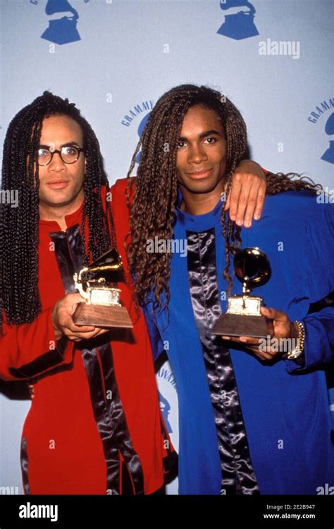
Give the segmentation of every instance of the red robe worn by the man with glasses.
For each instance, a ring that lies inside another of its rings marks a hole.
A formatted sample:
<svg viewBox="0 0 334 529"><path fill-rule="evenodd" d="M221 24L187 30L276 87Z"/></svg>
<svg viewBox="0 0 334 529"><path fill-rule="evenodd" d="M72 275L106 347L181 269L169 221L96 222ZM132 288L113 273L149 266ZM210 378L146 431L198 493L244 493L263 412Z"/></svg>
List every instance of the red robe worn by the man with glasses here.
<svg viewBox="0 0 334 529"><path fill-rule="evenodd" d="M126 270L124 188L124 180L120 180L111 193L118 251ZM67 227L80 226L81 218L82 206L66 216ZM81 351L78 342L68 340L63 351L55 349L51 313L66 290L51 244L52 232L58 237L58 223L39 221L42 312L29 324L8 327L4 322L0 339L0 377L28 380L35 390L22 434L23 487L31 494L121 494L125 492L125 473L120 468L124 471L126 467L131 492L141 493L144 488L144 493L150 494L163 485L163 459L170 465L175 462L175 452L166 450L168 435L161 431L144 318L142 313L136 315L130 290L120 283L121 300L135 326L125 335L114 333L112 355L99 347ZM112 390L110 401L108 390ZM122 413L123 429L119 428ZM118 434L114 435L116 427Z"/></svg>

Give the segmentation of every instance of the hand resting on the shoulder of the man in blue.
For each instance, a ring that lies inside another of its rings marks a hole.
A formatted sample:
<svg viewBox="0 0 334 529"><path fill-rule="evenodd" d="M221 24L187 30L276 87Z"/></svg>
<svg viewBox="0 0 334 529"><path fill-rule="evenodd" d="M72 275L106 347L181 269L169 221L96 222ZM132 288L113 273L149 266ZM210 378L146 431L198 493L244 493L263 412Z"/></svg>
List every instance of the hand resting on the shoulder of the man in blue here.
<svg viewBox="0 0 334 529"><path fill-rule="evenodd" d="M230 219L237 225L249 228L252 219L259 220L266 196L266 175L258 163L242 160L232 177L225 210L230 210Z"/></svg>

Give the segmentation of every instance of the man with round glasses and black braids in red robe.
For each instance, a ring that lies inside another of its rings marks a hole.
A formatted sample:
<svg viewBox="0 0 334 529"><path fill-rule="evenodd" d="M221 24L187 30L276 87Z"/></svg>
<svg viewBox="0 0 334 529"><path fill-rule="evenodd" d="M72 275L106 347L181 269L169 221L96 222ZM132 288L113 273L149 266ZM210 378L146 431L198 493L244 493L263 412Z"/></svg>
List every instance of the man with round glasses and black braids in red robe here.
<svg viewBox="0 0 334 529"><path fill-rule="evenodd" d="M34 388L21 440L27 494L152 494L176 472L130 287L118 285L133 329L72 318L82 266L118 244L127 275L123 187L110 192L97 137L68 100L45 92L13 118L2 189L18 204L1 206L0 377Z"/></svg>

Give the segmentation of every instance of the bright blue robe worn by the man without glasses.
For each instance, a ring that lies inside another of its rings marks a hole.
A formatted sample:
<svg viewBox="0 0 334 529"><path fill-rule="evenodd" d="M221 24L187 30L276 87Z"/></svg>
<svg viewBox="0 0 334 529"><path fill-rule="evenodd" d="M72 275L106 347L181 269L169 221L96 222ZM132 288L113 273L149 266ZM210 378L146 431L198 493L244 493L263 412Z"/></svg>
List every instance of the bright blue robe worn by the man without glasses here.
<svg viewBox="0 0 334 529"><path fill-rule="evenodd" d="M225 312L222 205L218 202L213 211L199 216L177 209L174 239L186 239L190 232L213 232L222 294L219 311ZM252 228L242 228L242 247L259 247L271 262L271 279L253 295L286 312L290 320L302 320L306 333L304 366L287 359L270 365L246 351L230 349L247 434L245 448L261 494L317 494L318 487L334 485L333 419L325 373L333 369L334 309L307 314L309 304L334 290L333 234L333 205L318 204L309 192L266 197L261 219ZM188 268L187 256L174 253L169 315L166 310L154 314L151 302L144 313L154 355L166 349L178 390L179 492L220 494L221 445ZM235 279L232 294L241 289Z"/></svg>

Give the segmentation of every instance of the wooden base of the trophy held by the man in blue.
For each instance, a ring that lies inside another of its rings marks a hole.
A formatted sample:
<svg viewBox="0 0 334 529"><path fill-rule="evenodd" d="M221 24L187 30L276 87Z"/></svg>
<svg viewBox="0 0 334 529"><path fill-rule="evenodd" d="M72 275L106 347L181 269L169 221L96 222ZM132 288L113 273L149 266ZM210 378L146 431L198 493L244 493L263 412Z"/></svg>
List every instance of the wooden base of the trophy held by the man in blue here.
<svg viewBox="0 0 334 529"><path fill-rule="evenodd" d="M225 313L219 316L211 334L266 338L270 333L268 332L266 318L264 316L245 316L244 314Z"/></svg>

